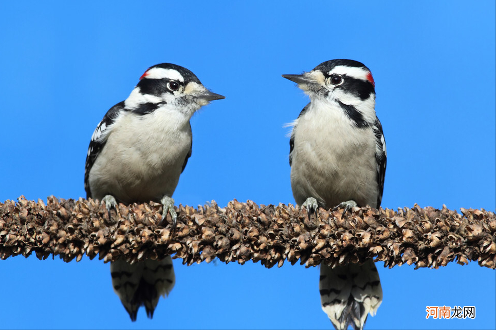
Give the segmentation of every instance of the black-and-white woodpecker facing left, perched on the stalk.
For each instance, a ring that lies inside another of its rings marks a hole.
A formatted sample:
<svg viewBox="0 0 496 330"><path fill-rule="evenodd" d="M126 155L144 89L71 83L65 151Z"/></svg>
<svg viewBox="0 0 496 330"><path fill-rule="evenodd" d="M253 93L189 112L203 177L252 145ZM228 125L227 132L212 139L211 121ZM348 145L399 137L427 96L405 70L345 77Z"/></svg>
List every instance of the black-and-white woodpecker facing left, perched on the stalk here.
<svg viewBox="0 0 496 330"><path fill-rule="evenodd" d="M386 145L375 112L372 73L358 61L336 59L309 72L283 74L310 98L288 124L293 197L307 209L369 205L379 208L384 188ZM344 213L343 213L344 214ZM322 309L338 330L363 329L382 302L379 274L372 259L363 264L321 263Z"/></svg>

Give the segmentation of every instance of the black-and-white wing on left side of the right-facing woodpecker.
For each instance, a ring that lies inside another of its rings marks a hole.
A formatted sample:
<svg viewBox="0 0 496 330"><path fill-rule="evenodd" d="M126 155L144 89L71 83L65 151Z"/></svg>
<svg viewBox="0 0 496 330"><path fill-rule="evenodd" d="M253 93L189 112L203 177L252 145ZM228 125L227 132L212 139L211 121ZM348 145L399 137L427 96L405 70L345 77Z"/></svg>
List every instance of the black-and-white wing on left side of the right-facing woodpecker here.
<svg viewBox="0 0 496 330"><path fill-rule="evenodd" d="M86 156L86 165L84 167L84 190L86 190L86 198L91 197L91 191L89 188L89 171L93 164L102 151L105 142L108 139L108 134L112 130L112 124L114 124L118 113L124 108L124 101L116 104L110 110L107 111L102 121L98 124L97 128L91 135L91 141L88 146L88 154ZM185 164L186 165L186 164Z"/></svg>

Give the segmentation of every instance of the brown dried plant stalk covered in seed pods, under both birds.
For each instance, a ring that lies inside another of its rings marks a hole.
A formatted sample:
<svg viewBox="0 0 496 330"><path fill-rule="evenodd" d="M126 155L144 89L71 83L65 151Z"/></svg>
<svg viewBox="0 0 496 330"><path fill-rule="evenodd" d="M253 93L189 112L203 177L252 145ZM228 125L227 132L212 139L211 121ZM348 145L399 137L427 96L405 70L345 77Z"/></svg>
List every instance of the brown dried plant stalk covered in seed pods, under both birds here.
<svg viewBox="0 0 496 330"><path fill-rule="evenodd" d="M495 269L496 218L484 209L462 214L432 207L355 208L346 215L320 209L308 219L306 210L291 204L256 205L252 201L215 202L176 207L178 225L171 233L156 224L161 205L120 204L113 221L96 200L48 198L0 203L0 258L35 253L39 259L59 255L64 261L83 254L105 262L125 258L163 258L171 254L184 264L260 261L270 268L285 260L307 267L363 262L377 257L385 266L407 263L445 266L450 261L477 261ZM170 216L168 218L170 220Z"/></svg>

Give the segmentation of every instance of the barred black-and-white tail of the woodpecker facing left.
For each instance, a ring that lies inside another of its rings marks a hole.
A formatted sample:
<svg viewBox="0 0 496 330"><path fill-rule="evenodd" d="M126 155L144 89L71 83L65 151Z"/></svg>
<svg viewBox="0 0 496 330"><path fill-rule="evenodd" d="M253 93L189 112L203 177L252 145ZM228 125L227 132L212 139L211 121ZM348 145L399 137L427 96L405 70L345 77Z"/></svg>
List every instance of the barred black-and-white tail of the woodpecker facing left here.
<svg viewBox="0 0 496 330"><path fill-rule="evenodd" d="M322 309L337 330L348 325L363 329L367 316L374 316L382 302L379 273L372 259L362 265L320 268Z"/></svg>

